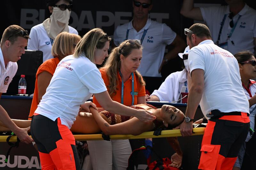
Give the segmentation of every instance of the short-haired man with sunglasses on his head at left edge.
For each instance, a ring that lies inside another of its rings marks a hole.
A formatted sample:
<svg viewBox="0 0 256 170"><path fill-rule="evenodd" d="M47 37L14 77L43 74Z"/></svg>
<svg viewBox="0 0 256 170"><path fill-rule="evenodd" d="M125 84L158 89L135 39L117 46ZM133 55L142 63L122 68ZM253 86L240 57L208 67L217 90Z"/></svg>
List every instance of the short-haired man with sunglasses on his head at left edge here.
<svg viewBox="0 0 256 170"><path fill-rule="evenodd" d="M25 47L28 45L28 33L17 25L12 25L4 30L0 43L0 97L6 92L12 78L18 69L17 61L25 53ZM29 128L17 127L8 116L7 112L0 105L0 120L19 137L21 142L31 143L32 138L28 136Z"/></svg>

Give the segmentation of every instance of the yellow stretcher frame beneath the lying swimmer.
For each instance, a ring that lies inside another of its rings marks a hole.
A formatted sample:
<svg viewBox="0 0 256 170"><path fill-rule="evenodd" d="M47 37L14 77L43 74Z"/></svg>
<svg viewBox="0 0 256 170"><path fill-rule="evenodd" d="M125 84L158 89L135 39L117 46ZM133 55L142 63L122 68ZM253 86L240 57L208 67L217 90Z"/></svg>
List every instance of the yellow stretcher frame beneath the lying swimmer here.
<svg viewBox="0 0 256 170"><path fill-rule="evenodd" d="M204 134L205 128L193 128L193 134L192 136L195 135L203 135ZM144 139L144 138L155 138L155 137L179 137L181 136L180 134L180 129L173 129L173 130L163 130L161 132L161 135L155 136L153 135L154 131L150 132L144 132L140 135L133 136L133 135L109 135L110 139L115 140L115 139ZM0 142L6 142L6 138L8 136L0 136ZM79 141L87 141L87 140L103 140L101 134L81 134L81 135L74 135L76 140ZM17 141L17 136L13 136L10 139L10 142L16 142Z"/></svg>

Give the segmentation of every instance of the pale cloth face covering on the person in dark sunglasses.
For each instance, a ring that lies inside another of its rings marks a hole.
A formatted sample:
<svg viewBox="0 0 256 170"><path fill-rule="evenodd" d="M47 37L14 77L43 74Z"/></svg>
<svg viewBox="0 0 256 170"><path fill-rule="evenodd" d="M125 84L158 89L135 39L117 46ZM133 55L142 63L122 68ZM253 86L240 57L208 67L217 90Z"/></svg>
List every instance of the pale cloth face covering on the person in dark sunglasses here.
<svg viewBox="0 0 256 170"><path fill-rule="evenodd" d="M70 17L70 12L68 9L65 11L60 10L59 7L53 7L52 16L59 22L63 24L68 24Z"/></svg>

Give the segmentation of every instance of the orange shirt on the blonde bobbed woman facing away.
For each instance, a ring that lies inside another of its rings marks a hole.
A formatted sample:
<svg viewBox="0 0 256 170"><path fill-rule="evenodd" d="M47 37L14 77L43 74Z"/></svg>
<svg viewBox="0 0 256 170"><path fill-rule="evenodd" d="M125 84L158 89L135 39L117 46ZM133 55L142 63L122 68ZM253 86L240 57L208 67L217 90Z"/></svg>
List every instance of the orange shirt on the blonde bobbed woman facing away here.
<svg viewBox="0 0 256 170"><path fill-rule="evenodd" d="M57 67L57 64L60 63L60 60L58 57L55 57L55 58L52 58L52 59L49 59L49 60L46 60L43 64L40 65L40 67L37 69L37 72L36 72L36 83L35 83L35 90L34 90L34 96L33 96L33 100L32 100L32 103L31 103L31 107L30 107L30 112L29 112L29 117L31 117L32 115L34 115L34 112L36 111L36 108L37 108L37 105L39 104L38 103L38 84L37 84L37 78L38 78L38 75L40 73L42 73L43 71L47 71L49 72L50 74L52 74L53 76L53 73ZM28 120L31 120L31 118L28 118Z"/></svg>

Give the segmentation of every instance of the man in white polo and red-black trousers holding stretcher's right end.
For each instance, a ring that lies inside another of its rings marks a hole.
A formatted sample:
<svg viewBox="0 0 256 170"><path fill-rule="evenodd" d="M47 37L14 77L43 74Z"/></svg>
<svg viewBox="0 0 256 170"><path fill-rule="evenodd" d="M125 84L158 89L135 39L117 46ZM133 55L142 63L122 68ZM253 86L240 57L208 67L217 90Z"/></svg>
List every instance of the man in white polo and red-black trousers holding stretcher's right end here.
<svg viewBox="0 0 256 170"><path fill-rule="evenodd" d="M198 169L232 169L250 128L249 102L241 85L236 58L213 43L204 24L185 29L188 54L188 106L181 124L182 136L192 135L196 108L208 123Z"/></svg>

